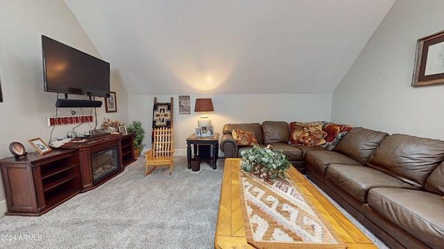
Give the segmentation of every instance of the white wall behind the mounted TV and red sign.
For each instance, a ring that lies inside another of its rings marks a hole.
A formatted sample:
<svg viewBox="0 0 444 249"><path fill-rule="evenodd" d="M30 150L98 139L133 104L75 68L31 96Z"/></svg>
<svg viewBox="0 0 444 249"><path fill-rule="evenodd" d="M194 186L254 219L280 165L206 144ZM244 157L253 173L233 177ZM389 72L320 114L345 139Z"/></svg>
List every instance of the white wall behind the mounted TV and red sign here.
<svg viewBox="0 0 444 249"><path fill-rule="evenodd" d="M49 36L85 53L101 57L89 41L69 8L62 0L0 0L0 80L3 102L0 102L0 158L12 156L9 144L21 142L26 151L34 151L28 143L40 137L48 142L52 127L46 117L56 115L56 93L45 93L42 69L41 35ZM106 60L106 59L105 59ZM111 91L117 92L117 113L105 113L105 104L97 109L98 127L103 118L128 121L128 100L114 77ZM75 98L76 96L69 96ZM103 100L103 98L99 98ZM77 113L94 110L74 109ZM71 109L59 109L58 116L70 116ZM95 120L94 120L95 121ZM83 133L95 127L82 124L75 131ZM53 129L52 138L64 138L74 125ZM1 179L0 179L1 181ZM0 214L6 212L6 197L0 183Z"/></svg>

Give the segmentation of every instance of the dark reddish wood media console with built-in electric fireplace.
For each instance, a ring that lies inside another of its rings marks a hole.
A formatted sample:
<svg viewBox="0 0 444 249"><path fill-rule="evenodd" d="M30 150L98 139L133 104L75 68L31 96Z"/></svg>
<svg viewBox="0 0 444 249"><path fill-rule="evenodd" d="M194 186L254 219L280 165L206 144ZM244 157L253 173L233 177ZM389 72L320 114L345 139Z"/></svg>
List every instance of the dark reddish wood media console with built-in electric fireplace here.
<svg viewBox="0 0 444 249"><path fill-rule="evenodd" d="M44 214L117 176L134 161L133 134L112 136L74 149L53 149L44 155L31 153L18 160L4 158L0 169L8 203L6 214ZM105 167L94 172L96 162L105 162ZM115 168L108 169L108 165Z"/></svg>

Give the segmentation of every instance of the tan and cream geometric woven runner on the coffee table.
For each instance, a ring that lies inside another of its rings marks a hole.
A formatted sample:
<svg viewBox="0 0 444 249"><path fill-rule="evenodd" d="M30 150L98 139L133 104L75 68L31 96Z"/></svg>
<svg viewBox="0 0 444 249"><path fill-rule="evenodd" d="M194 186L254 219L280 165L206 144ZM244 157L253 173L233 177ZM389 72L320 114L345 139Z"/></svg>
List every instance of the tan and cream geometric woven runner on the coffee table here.
<svg viewBox="0 0 444 249"><path fill-rule="evenodd" d="M255 248L347 248L287 179L268 181L239 170L247 242Z"/></svg>

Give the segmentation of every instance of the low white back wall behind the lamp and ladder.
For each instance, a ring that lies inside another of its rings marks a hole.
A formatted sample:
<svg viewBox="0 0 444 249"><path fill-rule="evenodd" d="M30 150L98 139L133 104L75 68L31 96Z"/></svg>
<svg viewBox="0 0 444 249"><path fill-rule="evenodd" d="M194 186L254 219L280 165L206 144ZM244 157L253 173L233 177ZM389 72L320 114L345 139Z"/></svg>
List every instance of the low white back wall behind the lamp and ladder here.
<svg viewBox="0 0 444 249"><path fill-rule="evenodd" d="M183 95L187 95L184 93ZM179 114L178 95L128 95L130 122L139 120L146 131L144 149L151 148L151 125L154 98L157 102L169 102L173 97L173 128L175 155L187 155L186 138L194 133L202 113L194 112L196 98L212 98L214 111L207 112L214 132L221 138L223 125L227 123L273 121L330 120L331 93L318 94L234 94L191 95L191 114ZM222 156L223 154L221 154Z"/></svg>

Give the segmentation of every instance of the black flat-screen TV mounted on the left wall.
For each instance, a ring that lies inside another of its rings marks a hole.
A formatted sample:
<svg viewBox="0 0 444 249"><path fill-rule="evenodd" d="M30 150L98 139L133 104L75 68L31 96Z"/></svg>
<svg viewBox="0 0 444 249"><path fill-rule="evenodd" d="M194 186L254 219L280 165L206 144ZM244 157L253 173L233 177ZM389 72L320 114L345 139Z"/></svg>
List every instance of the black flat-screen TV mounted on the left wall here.
<svg viewBox="0 0 444 249"><path fill-rule="evenodd" d="M110 64L42 35L44 91L107 97Z"/></svg>

